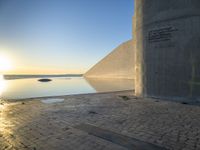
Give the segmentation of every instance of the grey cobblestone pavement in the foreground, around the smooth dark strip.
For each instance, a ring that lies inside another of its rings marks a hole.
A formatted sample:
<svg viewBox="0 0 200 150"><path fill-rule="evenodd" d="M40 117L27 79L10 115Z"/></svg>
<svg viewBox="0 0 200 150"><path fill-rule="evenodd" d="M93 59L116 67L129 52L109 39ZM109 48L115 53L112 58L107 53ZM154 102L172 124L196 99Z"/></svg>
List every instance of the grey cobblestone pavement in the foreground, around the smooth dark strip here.
<svg viewBox="0 0 200 150"><path fill-rule="evenodd" d="M75 128L91 124L166 149L200 150L200 107L130 92L45 98L0 104L1 150L125 150Z"/></svg>

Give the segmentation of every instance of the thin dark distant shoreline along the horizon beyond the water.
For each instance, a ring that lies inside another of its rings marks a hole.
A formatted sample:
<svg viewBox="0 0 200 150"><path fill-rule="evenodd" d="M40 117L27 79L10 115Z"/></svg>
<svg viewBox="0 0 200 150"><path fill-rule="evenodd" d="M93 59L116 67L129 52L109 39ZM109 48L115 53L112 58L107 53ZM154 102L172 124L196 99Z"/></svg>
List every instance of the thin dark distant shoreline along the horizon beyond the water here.
<svg viewBox="0 0 200 150"><path fill-rule="evenodd" d="M55 77L82 77L83 74L57 74L57 75L3 75L5 80L24 79L24 78L55 78Z"/></svg>

